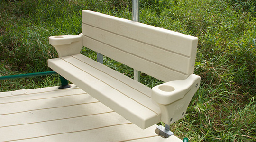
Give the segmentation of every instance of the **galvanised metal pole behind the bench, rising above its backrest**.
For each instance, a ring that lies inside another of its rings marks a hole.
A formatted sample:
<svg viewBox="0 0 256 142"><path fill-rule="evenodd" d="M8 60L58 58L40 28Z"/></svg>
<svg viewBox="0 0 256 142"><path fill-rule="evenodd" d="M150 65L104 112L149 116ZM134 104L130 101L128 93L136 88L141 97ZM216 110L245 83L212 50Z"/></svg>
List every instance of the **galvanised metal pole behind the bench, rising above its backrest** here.
<svg viewBox="0 0 256 142"><path fill-rule="evenodd" d="M139 22L139 0L132 0L132 20ZM134 80L140 82L140 72L133 70Z"/></svg>

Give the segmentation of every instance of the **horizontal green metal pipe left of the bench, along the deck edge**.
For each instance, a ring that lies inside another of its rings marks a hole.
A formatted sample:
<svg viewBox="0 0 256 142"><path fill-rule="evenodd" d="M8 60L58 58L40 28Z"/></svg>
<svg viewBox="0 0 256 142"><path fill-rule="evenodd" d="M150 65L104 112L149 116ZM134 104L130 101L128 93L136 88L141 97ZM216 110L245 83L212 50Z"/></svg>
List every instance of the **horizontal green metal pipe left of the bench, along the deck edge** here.
<svg viewBox="0 0 256 142"><path fill-rule="evenodd" d="M43 75L51 75L51 74L57 74L57 72L55 72L55 71L46 71L46 72L36 72L36 73L0 76L0 80L18 79L18 78L26 78L26 77L33 77L33 76L43 76Z"/></svg>

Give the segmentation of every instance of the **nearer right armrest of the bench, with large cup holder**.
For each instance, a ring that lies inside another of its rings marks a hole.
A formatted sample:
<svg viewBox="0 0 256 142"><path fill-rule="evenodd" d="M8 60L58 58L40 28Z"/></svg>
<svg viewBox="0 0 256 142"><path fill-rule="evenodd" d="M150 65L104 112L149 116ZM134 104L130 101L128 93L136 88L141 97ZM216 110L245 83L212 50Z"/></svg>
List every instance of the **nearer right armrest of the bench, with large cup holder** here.
<svg viewBox="0 0 256 142"><path fill-rule="evenodd" d="M185 80L175 80L152 88L152 99L161 109L161 121L172 124L181 119L199 88L200 77L191 74Z"/></svg>

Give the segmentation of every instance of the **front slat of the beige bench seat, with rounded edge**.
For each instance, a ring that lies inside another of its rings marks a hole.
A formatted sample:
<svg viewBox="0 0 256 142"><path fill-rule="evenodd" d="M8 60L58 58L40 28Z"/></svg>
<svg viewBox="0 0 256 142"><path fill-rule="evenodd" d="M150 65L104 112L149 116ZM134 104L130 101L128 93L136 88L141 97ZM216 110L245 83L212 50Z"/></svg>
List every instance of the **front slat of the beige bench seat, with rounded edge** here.
<svg viewBox="0 0 256 142"><path fill-rule="evenodd" d="M95 61L91 60L91 62ZM95 62L95 64L100 63ZM75 82L78 87L86 90L92 97L98 99L103 104L141 128L149 127L160 121L160 115L156 114L151 109L128 98L117 89L110 87L105 82L102 82L87 73L87 71L91 69L83 71L60 58L48 60L48 66L64 76L67 80ZM101 78L101 75L97 77Z"/></svg>

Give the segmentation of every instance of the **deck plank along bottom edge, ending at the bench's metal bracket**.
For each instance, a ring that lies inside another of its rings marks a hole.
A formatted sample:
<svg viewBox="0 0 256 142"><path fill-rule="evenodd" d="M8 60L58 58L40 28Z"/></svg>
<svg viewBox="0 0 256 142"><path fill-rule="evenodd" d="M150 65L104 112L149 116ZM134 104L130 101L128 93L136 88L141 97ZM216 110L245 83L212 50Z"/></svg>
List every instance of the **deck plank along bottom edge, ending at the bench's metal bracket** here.
<svg viewBox="0 0 256 142"><path fill-rule="evenodd" d="M52 140L55 140L55 142L125 142L130 139L158 137L156 134L152 135L148 130L141 133L135 133L138 131L140 131L140 128L134 124L123 124L99 129L84 130L76 133L62 133L45 137L24 139L23 141L14 142L49 142Z"/></svg>

